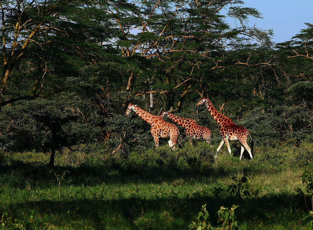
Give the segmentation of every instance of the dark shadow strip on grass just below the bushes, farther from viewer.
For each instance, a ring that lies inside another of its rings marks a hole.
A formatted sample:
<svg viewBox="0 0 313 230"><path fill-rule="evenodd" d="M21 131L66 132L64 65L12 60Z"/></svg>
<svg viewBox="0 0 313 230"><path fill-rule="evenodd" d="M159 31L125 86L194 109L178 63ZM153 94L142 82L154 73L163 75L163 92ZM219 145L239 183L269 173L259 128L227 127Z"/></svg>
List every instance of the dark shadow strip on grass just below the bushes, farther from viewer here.
<svg viewBox="0 0 313 230"><path fill-rule="evenodd" d="M239 163L240 165L240 163ZM216 165L212 163L191 163L187 167L178 167L177 165L168 165L166 167L150 165L134 165L124 163L123 165L90 166L81 164L78 167L72 166L54 166L49 167L43 163L23 163L19 160L10 161L10 164L3 164L0 167L0 182L2 180L13 188L25 188L26 184L36 186L56 185L57 176L60 177L64 172L64 181L70 179L71 185L95 186L116 183L137 183L138 180L149 183L171 182L176 179L194 179L197 178L210 184L218 182L221 178L231 177L241 172L248 173L275 173L277 168L254 167L249 165L233 166ZM186 182L188 183L188 182Z"/></svg>

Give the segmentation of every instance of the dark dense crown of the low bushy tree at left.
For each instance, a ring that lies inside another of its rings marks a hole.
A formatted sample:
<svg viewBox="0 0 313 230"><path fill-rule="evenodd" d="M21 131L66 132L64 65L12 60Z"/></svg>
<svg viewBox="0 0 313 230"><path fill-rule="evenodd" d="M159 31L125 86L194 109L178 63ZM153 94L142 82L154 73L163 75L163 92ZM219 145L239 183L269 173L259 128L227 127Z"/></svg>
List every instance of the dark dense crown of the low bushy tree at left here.
<svg viewBox="0 0 313 230"><path fill-rule="evenodd" d="M52 142L56 142L57 149L95 142L100 130L86 121L84 115L88 110L82 102L80 97L64 95L51 100L20 101L5 107L0 120L5 136L2 146L47 151Z"/></svg>

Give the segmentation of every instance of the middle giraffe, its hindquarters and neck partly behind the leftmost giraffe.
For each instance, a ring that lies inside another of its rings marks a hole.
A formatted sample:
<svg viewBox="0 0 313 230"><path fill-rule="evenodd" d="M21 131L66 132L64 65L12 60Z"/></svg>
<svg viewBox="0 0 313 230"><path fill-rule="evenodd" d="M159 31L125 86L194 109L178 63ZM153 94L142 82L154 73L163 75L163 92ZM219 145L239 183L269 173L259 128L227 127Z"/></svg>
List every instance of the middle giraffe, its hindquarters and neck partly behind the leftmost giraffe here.
<svg viewBox="0 0 313 230"><path fill-rule="evenodd" d="M189 137L191 145L191 137L196 139L203 138L205 142L211 144L211 130L209 130L207 127L198 125L194 120L190 118L182 118L168 111L162 112L161 117L163 118L165 116L185 128L186 135Z"/></svg>

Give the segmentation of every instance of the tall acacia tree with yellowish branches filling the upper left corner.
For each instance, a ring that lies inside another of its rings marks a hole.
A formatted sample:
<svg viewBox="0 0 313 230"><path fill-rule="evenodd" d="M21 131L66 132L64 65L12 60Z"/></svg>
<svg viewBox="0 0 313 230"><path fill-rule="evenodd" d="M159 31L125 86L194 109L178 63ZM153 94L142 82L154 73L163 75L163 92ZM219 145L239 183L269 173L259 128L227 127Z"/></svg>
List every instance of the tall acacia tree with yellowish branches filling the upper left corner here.
<svg viewBox="0 0 313 230"><path fill-rule="evenodd" d="M91 0L1 1L1 106L68 90L82 65L116 53L115 29Z"/></svg>

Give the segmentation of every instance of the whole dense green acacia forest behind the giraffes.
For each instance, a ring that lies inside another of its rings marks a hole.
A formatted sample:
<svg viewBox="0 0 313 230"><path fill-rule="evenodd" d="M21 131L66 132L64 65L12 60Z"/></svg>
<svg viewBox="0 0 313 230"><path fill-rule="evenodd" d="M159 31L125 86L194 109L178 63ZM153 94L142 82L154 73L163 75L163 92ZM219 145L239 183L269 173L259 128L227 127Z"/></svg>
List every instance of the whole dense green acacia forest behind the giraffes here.
<svg viewBox="0 0 313 230"><path fill-rule="evenodd" d="M150 126L125 116L129 102L193 118L219 139L216 122L195 106L203 96L257 145L312 141L309 22L275 44L272 30L249 26L261 13L239 0L4 0L0 7L4 151L51 152L53 165L55 151L80 144L125 156L153 147Z"/></svg>

